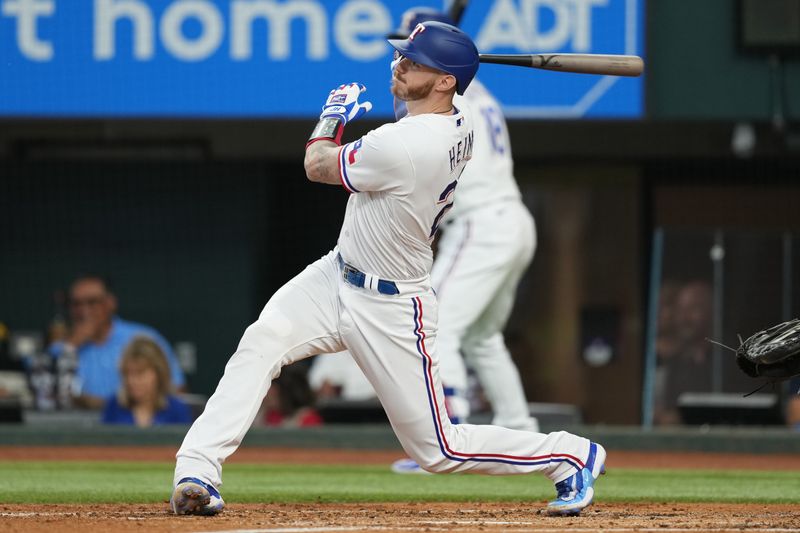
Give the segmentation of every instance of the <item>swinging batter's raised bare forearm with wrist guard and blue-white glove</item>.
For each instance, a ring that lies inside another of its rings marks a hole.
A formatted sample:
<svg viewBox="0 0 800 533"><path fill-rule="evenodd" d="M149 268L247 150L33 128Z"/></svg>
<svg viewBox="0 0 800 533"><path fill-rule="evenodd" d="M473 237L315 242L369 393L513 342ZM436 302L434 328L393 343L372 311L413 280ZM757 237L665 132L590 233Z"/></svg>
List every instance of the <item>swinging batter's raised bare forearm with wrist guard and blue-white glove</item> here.
<svg viewBox="0 0 800 533"><path fill-rule="evenodd" d="M340 85L332 90L322 106L319 122L306 143L304 166L311 181L336 185L340 183L339 153L344 126L372 109L358 97L367 88L360 83Z"/></svg>

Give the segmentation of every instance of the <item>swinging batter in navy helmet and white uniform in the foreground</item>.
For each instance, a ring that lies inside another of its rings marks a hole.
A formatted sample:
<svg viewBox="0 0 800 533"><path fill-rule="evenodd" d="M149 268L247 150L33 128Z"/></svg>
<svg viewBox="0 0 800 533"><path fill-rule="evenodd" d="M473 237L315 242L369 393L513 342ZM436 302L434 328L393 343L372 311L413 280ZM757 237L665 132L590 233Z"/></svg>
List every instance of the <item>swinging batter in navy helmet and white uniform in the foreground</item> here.
<svg viewBox="0 0 800 533"><path fill-rule="evenodd" d="M453 104L478 70L461 30L438 22L390 40L392 93L408 115L341 145L346 124L369 111L365 87L330 92L306 145L311 181L351 196L337 246L281 287L244 332L217 390L177 453L177 514L212 515L222 463L242 441L284 365L349 350L372 384L403 449L430 472L541 472L556 487L554 514L592 502L604 471L599 444L566 432L453 425L436 357L437 302L430 247L474 149L469 110Z"/></svg>

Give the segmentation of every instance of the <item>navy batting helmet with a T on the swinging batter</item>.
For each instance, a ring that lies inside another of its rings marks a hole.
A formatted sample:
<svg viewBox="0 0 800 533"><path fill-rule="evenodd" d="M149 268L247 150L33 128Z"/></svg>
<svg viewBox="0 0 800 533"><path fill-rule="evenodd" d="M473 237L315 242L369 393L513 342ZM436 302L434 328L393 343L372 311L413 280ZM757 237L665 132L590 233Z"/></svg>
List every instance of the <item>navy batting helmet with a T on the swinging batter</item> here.
<svg viewBox="0 0 800 533"><path fill-rule="evenodd" d="M472 39L444 22L417 24L407 39L389 39L403 57L456 78L456 92L464 94L478 72L478 49Z"/></svg>

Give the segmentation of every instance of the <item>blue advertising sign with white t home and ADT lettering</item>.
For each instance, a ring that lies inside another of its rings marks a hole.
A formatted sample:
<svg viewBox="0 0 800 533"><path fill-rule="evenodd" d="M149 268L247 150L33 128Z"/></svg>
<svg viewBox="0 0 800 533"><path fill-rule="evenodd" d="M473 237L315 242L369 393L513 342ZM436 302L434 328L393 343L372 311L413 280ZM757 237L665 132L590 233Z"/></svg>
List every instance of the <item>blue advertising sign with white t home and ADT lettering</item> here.
<svg viewBox="0 0 800 533"><path fill-rule="evenodd" d="M484 53L641 55L643 0L472 2ZM313 117L358 81L392 114L385 34L420 0L0 0L0 116ZM512 117L636 118L641 78L482 65Z"/></svg>

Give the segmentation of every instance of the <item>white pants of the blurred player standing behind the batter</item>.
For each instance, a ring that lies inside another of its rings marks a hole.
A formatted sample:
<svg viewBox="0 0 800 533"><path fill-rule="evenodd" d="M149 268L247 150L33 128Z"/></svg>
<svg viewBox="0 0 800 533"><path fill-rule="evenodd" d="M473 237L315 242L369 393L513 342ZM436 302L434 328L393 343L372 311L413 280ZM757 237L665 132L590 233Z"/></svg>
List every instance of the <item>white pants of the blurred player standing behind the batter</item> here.
<svg viewBox="0 0 800 533"><path fill-rule="evenodd" d="M517 286L535 250L533 217L518 200L471 210L443 228L431 282L439 300L442 381L453 389L448 407L459 420L469 416L464 399L469 366L492 404L493 424L536 427L503 338Z"/></svg>

